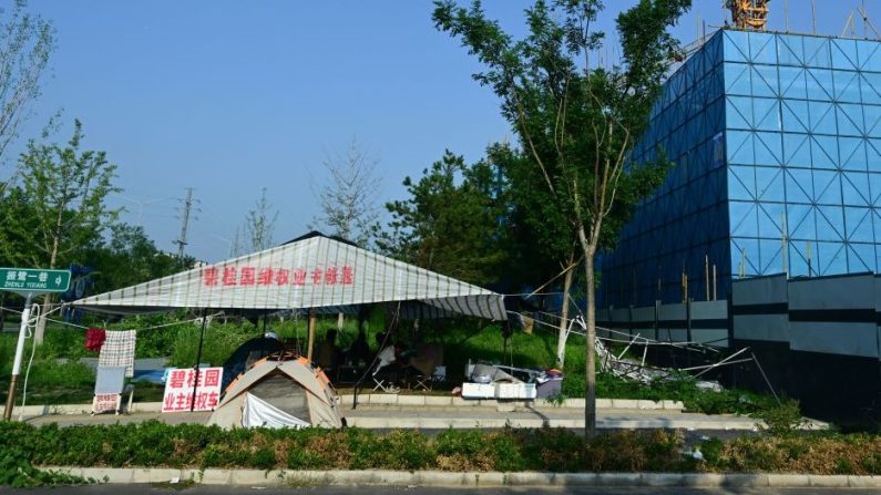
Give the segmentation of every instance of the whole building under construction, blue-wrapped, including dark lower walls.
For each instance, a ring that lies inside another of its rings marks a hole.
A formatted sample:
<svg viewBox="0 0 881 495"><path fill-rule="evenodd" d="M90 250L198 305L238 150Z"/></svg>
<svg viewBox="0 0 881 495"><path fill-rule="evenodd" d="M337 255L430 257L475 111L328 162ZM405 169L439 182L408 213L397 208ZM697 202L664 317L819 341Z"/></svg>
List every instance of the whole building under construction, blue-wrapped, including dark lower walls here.
<svg viewBox="0 0 881 495"><path fill-rule="evenodd" d="M674 166L600 260L597 324L881 424L881 42L768 32L767 3L729 1L665 83L633 156Z"/></svg>

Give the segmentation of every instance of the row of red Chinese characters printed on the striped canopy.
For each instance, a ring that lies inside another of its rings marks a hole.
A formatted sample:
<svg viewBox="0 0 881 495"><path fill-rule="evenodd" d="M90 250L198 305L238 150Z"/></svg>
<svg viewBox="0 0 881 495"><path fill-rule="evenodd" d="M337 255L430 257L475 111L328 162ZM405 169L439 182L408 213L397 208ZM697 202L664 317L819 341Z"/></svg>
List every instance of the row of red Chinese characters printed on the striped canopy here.
<svg viewBox="0 0 881 495"><path fill-rule="evenodd" d="M351 286L355 268L330 266L310 270L297 268L207 267L202 270L206 287L267 287L267 286Z"/></svg>

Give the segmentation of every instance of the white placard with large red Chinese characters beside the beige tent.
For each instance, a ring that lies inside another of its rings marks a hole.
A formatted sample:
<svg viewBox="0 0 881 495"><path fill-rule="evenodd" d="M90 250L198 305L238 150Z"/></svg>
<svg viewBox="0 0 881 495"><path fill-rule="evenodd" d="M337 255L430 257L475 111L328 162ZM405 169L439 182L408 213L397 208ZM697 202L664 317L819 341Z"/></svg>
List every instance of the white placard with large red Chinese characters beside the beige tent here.
<svg viewBox="0 0 881 495"><path fill-rule="evenodd" d="M221 403L223 370L223 368L199 369L193 411L214 411L217 404ZM168 379L165 381L162 412L189 411L195 381L196 370L192 368L172 369L168 372Z"/></svg>

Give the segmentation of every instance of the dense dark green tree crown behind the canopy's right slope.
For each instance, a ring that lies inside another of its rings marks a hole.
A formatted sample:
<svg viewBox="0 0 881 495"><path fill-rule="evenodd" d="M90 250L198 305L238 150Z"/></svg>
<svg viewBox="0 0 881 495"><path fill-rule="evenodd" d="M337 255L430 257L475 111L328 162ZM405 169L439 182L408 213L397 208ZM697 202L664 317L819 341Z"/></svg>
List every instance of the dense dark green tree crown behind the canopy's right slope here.
<svg viewBox="0 0 881 495"><path fill-rule="evenodd" d="M409 198L386 205L391 233L377 245L413 265L486 285L501 278L505 260L505 192L488 161L467 165L447 151L422 177L404 178Z"/></svg>

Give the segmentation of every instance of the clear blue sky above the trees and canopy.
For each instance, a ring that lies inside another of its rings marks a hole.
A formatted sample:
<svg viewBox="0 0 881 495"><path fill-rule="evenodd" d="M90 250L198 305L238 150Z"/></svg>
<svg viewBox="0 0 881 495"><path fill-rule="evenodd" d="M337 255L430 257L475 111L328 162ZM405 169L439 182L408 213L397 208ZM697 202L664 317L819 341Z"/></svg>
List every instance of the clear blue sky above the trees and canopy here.
<svg viewBox="0 0 881 495"><path fill-rule="evenodd" d="M514 32L531 3L484 2ZM606 3L611 32L614 12L634 1ZM720 24L720 3L695 0L676 35L689 42L703 21ZM771 2L771 29L783 30L785 3ZM810 0L788 3L790 30L810 32ZM818 1L818 32L840 33L860 3ZM865 3L881 27L880 2ZM125 190L113 204L162 249L175 250L175 198L186 187L201 202L187 252L216 261L262 187L279 210L275 239L303 234L318 213L322 161L352 138L379 163L380 203L402 198L403 177L444 148L477 161L511 138L496 99L471 80L480 66L434 30L430 1L31 0L30 9L54 23L59 47L22 141L62 110L53 140L64 142L80 118L84 145L119 166Z"/></svg>

